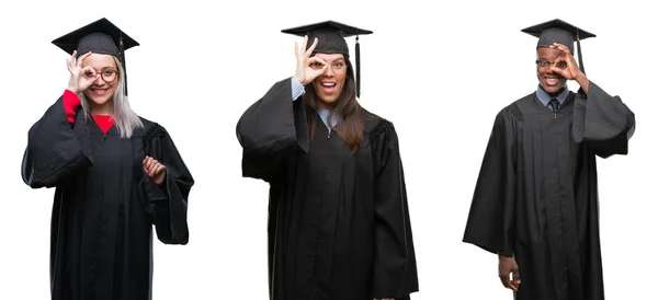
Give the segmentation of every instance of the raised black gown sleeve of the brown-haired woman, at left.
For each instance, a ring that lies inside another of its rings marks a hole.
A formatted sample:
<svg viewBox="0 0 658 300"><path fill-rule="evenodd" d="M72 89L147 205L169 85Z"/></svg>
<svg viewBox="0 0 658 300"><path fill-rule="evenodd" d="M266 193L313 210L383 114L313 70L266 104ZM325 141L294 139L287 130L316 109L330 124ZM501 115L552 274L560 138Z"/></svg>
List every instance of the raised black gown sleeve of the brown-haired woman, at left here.
<svg viewBox="0 0 658 300"><path fill-rule="evenodd" d="M293 101L291 79L274 83L238 120L242 176L264 180L279 174L292 153L308 151L308 128L302 97Z"/></svg>

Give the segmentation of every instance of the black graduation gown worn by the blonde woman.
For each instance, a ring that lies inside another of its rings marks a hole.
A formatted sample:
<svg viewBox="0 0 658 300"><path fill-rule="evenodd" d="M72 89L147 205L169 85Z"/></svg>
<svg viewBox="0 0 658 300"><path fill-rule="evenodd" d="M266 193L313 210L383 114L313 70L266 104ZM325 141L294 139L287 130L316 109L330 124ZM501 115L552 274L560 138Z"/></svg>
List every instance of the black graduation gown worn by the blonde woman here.
<svg viewBox="0 0 658 300"><path fill-rule="evenodd" d="M166 244L188 243L188 195L194 181L163 127L131 139L105 136L78 106L67 120L61 97L29 132L23 181L56 187L50 234L54 300L151 299L152 226ZM167 168L162 186L144 171L150 155Z"/></svg>

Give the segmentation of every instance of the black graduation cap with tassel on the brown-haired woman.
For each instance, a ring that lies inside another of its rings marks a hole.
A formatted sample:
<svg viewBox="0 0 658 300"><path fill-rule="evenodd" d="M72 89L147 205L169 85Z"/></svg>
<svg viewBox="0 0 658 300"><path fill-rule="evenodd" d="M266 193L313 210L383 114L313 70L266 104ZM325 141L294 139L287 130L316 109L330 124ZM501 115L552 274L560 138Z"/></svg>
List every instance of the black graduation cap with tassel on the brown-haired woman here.
<svg viewBox="0 0 658 300"><path fill-rule="evenodd" d="M372 31L358 28L336 21L325 21L299 27L287 28L281 32L294 34L297 36L308 35L309 43L307 43L306 45L307 49L310 47L310 45L313 45L314 38L317 37L318 44L314 49L314 54L342 54L345 57L345 59L350 58L350 49L348 48L345 37L356 36L356 96L361 96L361 49L359 45L359 35L371 34L373 33Z"/></svg>

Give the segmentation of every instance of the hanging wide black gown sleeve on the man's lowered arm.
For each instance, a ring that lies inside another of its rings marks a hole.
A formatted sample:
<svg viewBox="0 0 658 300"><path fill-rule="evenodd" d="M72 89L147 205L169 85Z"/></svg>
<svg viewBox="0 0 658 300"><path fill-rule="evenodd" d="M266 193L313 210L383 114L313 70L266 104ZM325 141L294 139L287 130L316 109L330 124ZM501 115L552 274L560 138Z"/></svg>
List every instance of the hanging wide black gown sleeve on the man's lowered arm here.
<svg viewBox="0 0 658 300"><path fill-rule="evenodd" d="M497 116L483 159L463 242L488 252L513 256L515 201L515 118L518 107Z"/></svg>

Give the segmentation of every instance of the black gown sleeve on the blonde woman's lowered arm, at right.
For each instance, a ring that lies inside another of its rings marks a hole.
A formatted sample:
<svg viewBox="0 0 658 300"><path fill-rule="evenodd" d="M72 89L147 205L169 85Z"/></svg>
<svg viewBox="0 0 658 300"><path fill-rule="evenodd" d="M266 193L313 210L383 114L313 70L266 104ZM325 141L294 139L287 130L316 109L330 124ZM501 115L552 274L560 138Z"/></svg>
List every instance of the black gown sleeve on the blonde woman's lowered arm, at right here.
<svg viewBox="0 0 658 300"><path fill-rule="evenodd" d="M164 165L167 175L161 186L143 171L141 185L148 200L148 212L158 240L164 244L188 244L188 196L194 178L167 130L157 123L144 137L144 150Z"/></svg>

